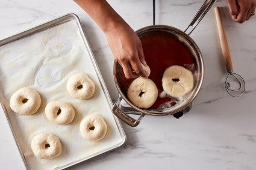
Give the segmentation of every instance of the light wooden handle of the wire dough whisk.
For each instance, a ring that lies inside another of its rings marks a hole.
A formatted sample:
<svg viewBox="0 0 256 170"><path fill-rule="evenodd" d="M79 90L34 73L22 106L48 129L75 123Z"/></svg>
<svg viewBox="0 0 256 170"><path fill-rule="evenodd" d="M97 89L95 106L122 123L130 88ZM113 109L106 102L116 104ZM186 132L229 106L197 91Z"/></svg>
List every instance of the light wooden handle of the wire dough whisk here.
<svg viewBox="0 0 256 170"><path fill-rule="evenodd" d="M226 40L226 34L225 30L222 25L222 20L220 18L220 12L219 12L219 7L214 8L215 11L215 16L217 20L217 28L219 32L219 39L220 39L220 46L222 49L222 55L225 60L226 64L226 71L232 72L233 71L233 66L232 66L232 61L231 61L231 55L229 52L229 47L228 47L228 41Z"/></svg>

